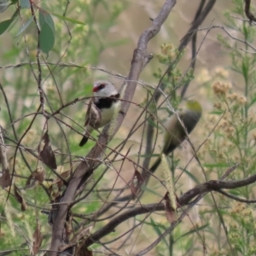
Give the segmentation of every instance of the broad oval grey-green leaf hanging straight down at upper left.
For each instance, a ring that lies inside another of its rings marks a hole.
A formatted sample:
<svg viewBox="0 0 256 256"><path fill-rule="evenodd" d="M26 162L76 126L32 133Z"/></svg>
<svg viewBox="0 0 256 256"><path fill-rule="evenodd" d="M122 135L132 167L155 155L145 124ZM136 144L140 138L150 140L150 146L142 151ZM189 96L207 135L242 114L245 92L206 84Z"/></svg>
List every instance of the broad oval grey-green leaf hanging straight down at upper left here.
<svg viewBox="0 0 256 256"><path fill-rule="evenodd" d="M41 27L39 36L40 49L48 55L55 44L55 23L51 15L39 11L39 24Z"/></svg>

